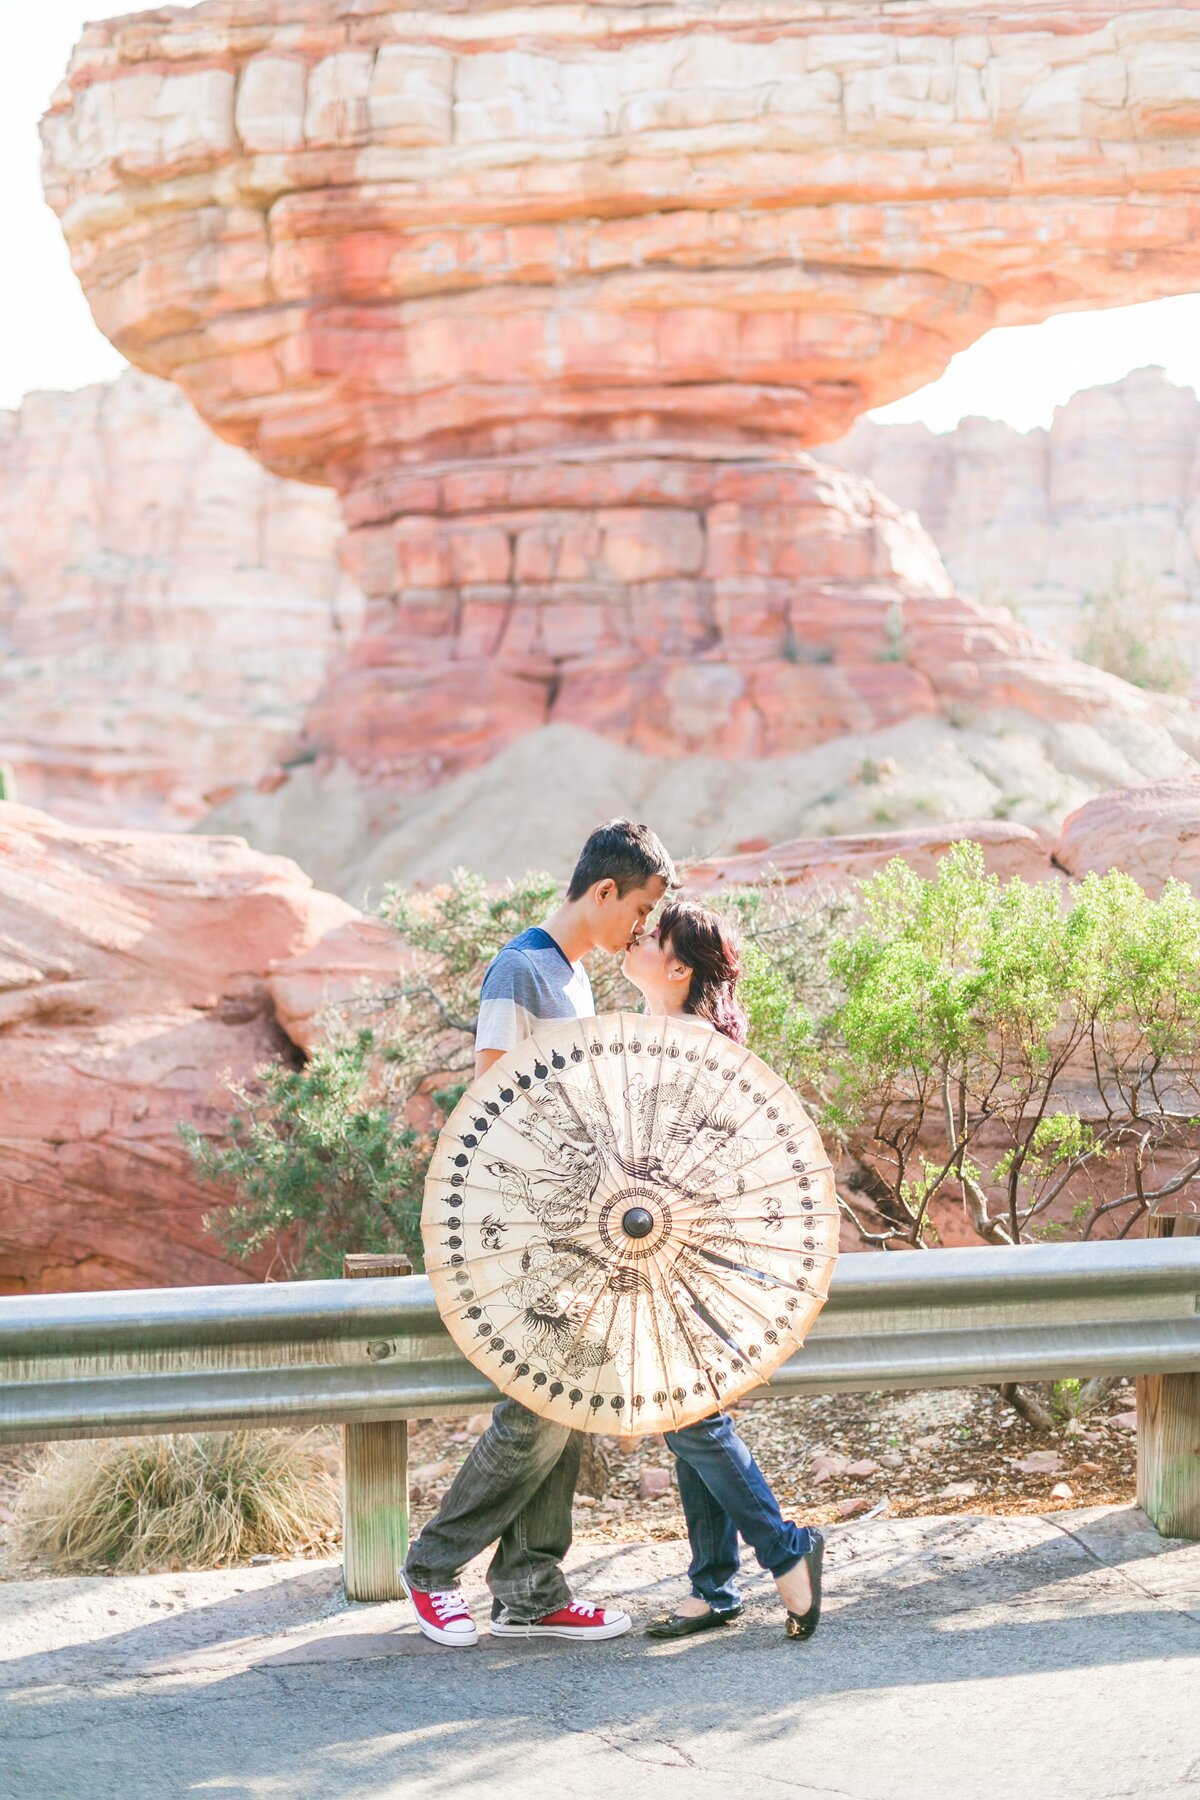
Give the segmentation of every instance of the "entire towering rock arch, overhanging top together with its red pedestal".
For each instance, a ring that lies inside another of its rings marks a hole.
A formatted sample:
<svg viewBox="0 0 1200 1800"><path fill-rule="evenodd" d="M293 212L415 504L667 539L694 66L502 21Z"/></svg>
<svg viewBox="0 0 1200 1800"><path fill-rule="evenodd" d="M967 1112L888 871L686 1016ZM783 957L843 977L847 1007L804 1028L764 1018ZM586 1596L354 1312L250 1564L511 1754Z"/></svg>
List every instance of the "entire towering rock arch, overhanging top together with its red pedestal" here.
<svg viewBox="0 0 1200 1800"><path fill-rule="evenodd" d="M414 787L551 722L783 756L945 709L919 637L984 702L1121 707L1027 680L1020 634L901 576L887 509L799 457L993 324L1200 277L1200 4L968 23L210 0L88 27L45 180L101 328L342 495L369 608L308 752Z"/></svg>

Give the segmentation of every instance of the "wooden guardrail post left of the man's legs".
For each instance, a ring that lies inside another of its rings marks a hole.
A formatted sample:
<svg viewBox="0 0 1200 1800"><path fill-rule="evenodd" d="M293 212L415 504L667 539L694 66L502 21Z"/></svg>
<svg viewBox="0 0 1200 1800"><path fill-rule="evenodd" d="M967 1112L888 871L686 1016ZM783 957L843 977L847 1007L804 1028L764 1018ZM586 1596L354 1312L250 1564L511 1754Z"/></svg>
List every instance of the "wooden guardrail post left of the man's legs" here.
<svg viewBox="0 0 1200 1800"><path fill-rule="evenodd" d="M342 1274L412 1274L407 1256L347 1256ZM390 1345L380 1343L380 1361ZM367 1355L376 1352L367 1345ZM342 1582L347 1600L399 1600L408 1553L408 1422L342 1426Z"/></svg>

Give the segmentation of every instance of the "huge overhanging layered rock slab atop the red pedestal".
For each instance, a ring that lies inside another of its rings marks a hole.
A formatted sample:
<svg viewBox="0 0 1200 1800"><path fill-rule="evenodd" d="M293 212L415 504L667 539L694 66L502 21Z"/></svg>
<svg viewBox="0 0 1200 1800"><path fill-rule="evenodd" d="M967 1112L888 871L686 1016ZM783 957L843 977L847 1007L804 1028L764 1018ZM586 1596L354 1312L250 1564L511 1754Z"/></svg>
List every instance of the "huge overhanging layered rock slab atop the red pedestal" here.
<svg viewBox="0 0 1200 1800"><path fill-rule="evenodd" d="M88 27L103 329L284 473L817 443L991 324L1191 286L1200 7L210 0Z"/></svg>

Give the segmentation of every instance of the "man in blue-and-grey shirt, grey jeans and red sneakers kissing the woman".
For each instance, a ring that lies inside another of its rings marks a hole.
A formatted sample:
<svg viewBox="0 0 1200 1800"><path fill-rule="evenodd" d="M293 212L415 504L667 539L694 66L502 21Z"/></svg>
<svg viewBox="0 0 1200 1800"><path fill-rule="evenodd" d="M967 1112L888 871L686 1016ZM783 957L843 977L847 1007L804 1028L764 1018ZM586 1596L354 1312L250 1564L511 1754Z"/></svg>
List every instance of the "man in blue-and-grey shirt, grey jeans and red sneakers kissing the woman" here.
<svg viewBox="0 0 1200 1800"><path fill-rule="evenodd" d="M621 956L676 886L675 864L648 826L613 819L592 832L563 904L545 925L513 938L484 976L475 1075L524 1042L540 1019L592 1019L581 959L588 950ZM500 1400L408 1550L405 1588L426 1638L479 1642L459 1573L497 1539L488 1570L493 1636L599 1642L630 1629L626 1613L576 1604L561 1570L581 1444L578 1431L540 1418L520 1400Z"/></svg>

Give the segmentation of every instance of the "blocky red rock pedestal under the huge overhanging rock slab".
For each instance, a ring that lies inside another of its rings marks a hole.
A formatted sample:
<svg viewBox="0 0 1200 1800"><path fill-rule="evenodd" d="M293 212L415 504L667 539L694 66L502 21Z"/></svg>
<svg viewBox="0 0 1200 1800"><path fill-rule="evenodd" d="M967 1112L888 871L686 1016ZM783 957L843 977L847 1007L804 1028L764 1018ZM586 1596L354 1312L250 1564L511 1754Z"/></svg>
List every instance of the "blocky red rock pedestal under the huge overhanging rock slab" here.
<svg viewBox="0 0 1200 1800"><path fill-rule="evenodd" d="M561 722L770 758L923 715L1159 713L954 596L912 520L806 455L437 466L387 506L347 509L367 625L306 722L374 779L426 787Z"/></svg>

